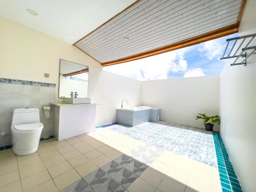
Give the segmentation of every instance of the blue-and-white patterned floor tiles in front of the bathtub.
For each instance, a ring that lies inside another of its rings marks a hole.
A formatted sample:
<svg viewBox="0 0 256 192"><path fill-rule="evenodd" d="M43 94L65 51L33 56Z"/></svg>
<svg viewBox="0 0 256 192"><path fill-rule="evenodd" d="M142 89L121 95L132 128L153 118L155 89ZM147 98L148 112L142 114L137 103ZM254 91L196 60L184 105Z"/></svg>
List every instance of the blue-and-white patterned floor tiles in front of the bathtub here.
<svg viewBox="0 0 256 192"><path fill-rule="evenodd" d="M157 123L147 122L133 127L115 124L105 129L158 146L162 150L174 152L178 155L217 167L212 132L197 127L164 121Z"/></svg>

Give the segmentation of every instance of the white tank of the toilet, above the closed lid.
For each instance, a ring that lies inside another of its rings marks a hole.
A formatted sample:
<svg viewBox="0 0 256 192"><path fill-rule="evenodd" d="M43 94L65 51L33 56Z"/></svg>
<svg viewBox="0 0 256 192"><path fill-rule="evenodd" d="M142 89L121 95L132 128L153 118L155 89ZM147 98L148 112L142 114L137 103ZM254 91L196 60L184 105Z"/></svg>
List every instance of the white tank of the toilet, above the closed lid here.
<svg viewBox="0 0 256 192"><path fill-rule="evenodd" d="M39 109L37 108L19 108L13 111L12 126L37 122L40 122Z"/></svg>

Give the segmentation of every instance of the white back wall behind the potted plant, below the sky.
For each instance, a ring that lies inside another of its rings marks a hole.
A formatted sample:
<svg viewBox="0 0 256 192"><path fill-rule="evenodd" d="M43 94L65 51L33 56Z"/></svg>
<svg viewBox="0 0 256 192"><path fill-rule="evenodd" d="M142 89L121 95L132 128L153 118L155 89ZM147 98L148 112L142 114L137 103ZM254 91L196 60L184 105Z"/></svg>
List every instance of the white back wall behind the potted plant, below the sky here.
<svg viewBox="0 0 256 192"><path fill-rule="evenodd" d="M142 81L141 103L161 108L163 121L204 127L196 115L219 114L219 76Z"/></svg>

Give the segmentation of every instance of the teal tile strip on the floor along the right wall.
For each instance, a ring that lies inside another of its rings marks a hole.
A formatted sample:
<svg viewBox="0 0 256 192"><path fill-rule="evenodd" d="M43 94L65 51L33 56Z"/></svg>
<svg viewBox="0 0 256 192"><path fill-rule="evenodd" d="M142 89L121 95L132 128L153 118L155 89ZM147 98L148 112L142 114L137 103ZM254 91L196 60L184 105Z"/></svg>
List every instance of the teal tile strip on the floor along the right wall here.
<svg viewBox="0 0 256 192"><path fill-rule="evenodd" d="M226 147L218 132L212 132L214 137L215 150L219 168L220 182L223 192L242 192L242 187L239 183L233 166L230 162Z"/></svg>

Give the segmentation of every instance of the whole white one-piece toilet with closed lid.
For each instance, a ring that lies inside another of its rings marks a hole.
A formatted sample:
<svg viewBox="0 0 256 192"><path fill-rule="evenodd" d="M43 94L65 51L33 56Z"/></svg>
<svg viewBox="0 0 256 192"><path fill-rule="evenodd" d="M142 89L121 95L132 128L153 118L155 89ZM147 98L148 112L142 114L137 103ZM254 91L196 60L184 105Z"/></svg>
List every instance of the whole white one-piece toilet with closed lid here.
<svg viewBox="0 0 256 192"><path fill-rule="evenodd" d="M37 108L15 109L11 125L13 152L20 156L36 152L43 128Z"/></svg>

